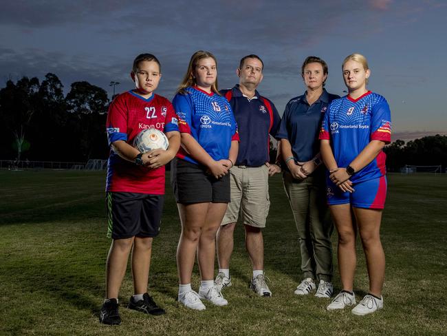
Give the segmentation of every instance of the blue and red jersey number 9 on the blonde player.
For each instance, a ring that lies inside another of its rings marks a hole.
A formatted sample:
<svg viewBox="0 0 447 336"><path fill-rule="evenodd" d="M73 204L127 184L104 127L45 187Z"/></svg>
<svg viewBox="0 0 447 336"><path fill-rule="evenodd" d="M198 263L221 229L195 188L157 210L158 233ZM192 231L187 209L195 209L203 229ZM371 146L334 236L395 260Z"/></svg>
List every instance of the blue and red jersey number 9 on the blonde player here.
<svg viewBox="0 0 447 336"><path fill-rule="evenodd" d="M371 140L391 142L391 112L383 96L367 92L357 99L344 96L331 102L320 139L330 140L338 167L347 167ZM362 182L386 173L386 154L380 154L349 180Z"/></svg>

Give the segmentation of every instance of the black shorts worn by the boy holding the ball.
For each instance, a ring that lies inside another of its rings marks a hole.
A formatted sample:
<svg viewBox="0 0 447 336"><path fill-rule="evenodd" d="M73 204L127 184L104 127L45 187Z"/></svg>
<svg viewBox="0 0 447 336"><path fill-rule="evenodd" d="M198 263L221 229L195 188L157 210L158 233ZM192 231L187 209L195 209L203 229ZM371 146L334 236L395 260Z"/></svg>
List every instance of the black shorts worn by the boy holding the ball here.
<svg viewBox="0 0 447 336"><path fill-rule="evenodd" d="M107 192L107 237L155 237L160 231L164 195Z"/></svg>

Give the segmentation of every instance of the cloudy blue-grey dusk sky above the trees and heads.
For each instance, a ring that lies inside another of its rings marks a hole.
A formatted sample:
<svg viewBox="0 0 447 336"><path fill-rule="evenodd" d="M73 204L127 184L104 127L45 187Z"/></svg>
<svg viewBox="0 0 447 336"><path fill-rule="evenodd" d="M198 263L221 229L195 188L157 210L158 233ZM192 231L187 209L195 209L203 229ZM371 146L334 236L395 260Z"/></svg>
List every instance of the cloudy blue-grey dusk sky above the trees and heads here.
<svg viewBox="0 0 447 336"><path fill-rule="evenodd" d="M112 94L130 90L131 64L150 52L162 63L158 94L173 98L196 50L218 61L219 88L237 83L239 60L264 61L259 92L280 114L303 94L301 63L329 65L326 88L343 95L341 63L360 52L369 90L391 107L393 139L447 134L447 1L5 1L0 11L0 87L56 74ZM444 41L444 42L443 42Z"/></svg>

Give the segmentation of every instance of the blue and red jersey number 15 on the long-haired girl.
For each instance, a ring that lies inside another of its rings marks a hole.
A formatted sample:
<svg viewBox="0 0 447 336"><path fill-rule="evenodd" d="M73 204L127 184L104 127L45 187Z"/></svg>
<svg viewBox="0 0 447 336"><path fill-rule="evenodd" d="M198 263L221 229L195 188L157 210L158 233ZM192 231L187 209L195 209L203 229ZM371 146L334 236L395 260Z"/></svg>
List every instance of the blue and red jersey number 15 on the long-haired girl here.
<svg viewBox="0 0 447 336"><path fill-rule="evenodd" d="M198 87L185 90L187 94L176 94L173 99L180 132L193 136L213 160L227 159L232 140L239 140L230 103L223 96L208 94ZM177 157L198 164L182 147Z"/></svg>

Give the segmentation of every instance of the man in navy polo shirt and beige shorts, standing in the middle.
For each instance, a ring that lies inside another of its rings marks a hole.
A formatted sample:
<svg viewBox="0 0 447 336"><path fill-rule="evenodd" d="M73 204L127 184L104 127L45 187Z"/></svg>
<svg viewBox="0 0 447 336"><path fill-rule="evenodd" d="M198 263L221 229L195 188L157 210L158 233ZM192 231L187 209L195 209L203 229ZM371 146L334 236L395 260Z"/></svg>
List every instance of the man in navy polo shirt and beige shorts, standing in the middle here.
<svg viewBox="0 0 447 336"><path fill-rule="evenodd" d="M241 59L237 68L239 85L221 94L230 101L239 130L239 154L230 169L231 202L217 232L219 274L215 282L220 288L231 286L230 258L233 233L241 216L246 229L246 249L252 262L253 277L250 288L263 297L272 296L264 279L264 242L262 229L270 207L268 176L281 171L270 164L270 136L276 136L280 117L276 107L257 92L263 78L263 62L257 55Z"/></svg>

